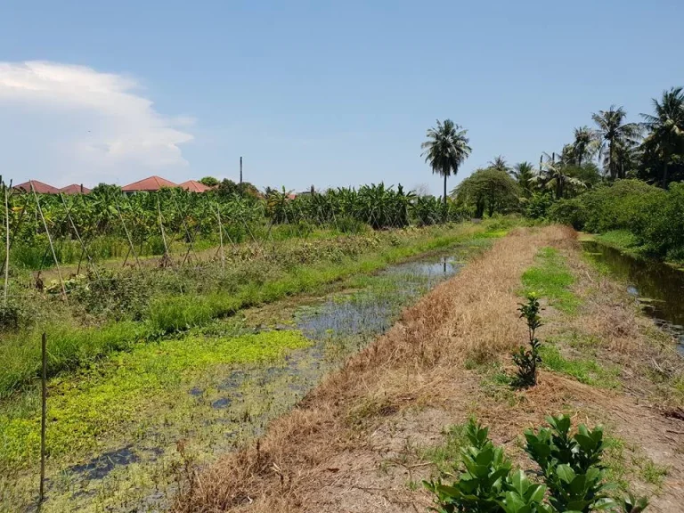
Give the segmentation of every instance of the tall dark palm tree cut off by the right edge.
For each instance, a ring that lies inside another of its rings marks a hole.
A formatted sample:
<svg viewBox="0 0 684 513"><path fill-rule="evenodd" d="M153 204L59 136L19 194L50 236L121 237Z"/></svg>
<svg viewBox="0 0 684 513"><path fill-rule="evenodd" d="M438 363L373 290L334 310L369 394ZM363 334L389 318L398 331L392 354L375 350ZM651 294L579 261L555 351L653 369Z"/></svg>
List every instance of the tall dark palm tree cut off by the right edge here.
<svg viewBox="0 0 684 513"><path fill-rule="evenodd" d="M644 146L663 160L662 186L665 188L672 155L684 149L684 92L681 87L672 87L663 92L660 102L655 98L652 102L655 116L641 114L643 126L649 132Z"/></svg>

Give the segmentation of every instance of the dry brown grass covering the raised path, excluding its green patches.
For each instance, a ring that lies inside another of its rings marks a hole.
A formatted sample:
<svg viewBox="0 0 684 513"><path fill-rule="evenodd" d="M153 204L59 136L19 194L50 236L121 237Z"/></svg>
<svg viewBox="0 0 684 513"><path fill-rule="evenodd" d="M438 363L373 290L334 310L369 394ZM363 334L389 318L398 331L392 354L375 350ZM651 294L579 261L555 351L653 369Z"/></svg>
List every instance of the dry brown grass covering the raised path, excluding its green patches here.
<svg viewBox="0 0 684 513"><path fill-rule="evenodd" d="M517 460L517 436L550 412L566 411L590 424L609 420L625 436L631 422L639 423L642 434L648 429L665 433L672 428L670 420L636 408L618 392L542 372L538 387L514 393L514 403L510 398L501 402L483 393L478 371L466 370L466 362L508 362L509 352L525 340L517 292L539 248L560 248L575 274L586 273L578 290L590 294L598 286L603 295L611 287L597 284L578 256L575 239L572 230L547 227L520 229L498 240L405 311L401 322L325 379L294 411L275 420L258 444L226 454L192 477L175 512L425 510L428 495L411 491L406 482L428 476L429 469L405 446L435 444L444 426L471 412L491 426L495 442L505 444ZM606 350L634 355L645 350L648 338L639 326L646 324L624 305L597 299L587 313L588 324L556 313L549 328L558 331L561 323L576 321L581 325L573 329L590 330ZM667 444L659 439L651 452L670 450L666 460L676 459ZM379 471L387 461L395 470ZM677 470L677 476L682 474L684 469ZM679 493L654 510L678 511L667 504Z"/></svg>

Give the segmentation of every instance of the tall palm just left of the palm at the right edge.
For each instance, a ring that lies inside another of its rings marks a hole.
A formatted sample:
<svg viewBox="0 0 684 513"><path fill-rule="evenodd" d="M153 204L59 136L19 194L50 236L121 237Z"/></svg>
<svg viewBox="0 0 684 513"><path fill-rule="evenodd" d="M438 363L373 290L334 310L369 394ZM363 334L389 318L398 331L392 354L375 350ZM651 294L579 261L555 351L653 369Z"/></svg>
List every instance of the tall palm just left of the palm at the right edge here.
<svg viewBox="0 0 684 513"><path fill-rule="evenodd" d="M627 113L622 107L615 108L611 105L608 110L599 110L599 113L591 114L591 119L599 126L599 154L606 154L607 145L607 168L611 178L623 178L623 170L615 162L615 148L617 144L629 146L639 139L641 128L637 123L624 123Z"/></svg>

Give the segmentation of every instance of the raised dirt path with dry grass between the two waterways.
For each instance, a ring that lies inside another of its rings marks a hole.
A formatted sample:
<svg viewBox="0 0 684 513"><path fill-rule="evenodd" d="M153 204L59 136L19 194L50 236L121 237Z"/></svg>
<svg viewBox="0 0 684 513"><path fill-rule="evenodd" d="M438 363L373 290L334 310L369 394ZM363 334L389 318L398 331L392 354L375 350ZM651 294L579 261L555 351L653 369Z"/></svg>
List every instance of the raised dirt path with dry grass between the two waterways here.
<svg viewBox="0 0 684 513"><path fill-rule="evenodd" d="M523 392L497 382L525 339L517 318L521 275L544 247L566 257L582 306L573 315L549 306L542 337L553 338L567 361L593 358L598 371L615 369L619 386L605 387L603 375L582 384L552 371ZM654 369L663 372L654 377ZM525 467L523 430L563 411L605 424L615 438L615 479L648 493L650 511L673 513L684 502L684 422L663 413L680 406L680 376L672 344L582 262L574 232L518 230L408 309L386 336L273 422L259 444L192 474L176 509L425 511L431 500L419 483L436 475L429 454L450 426L476 415Z"/></svg>

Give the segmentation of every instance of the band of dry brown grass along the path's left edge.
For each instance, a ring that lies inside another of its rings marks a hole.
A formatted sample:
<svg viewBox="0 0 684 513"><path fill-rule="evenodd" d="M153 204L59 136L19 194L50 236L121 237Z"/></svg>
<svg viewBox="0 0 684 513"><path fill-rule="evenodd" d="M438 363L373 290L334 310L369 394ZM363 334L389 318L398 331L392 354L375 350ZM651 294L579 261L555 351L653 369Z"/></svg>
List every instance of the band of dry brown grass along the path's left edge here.
<svg viewBox="0 0 684 513"><path fill-rule="evenodd" d="M178 511L297 509L317 468L360 443L367 425L435 402L452 369L505 353L524 335L516 289L538 248L565 232L518 230L408 309L402 321L273 422L258 446L224 456L184 493ZM451 388L451 387L447 387ZM255 501L250 503L250 501Z"/></svg>

